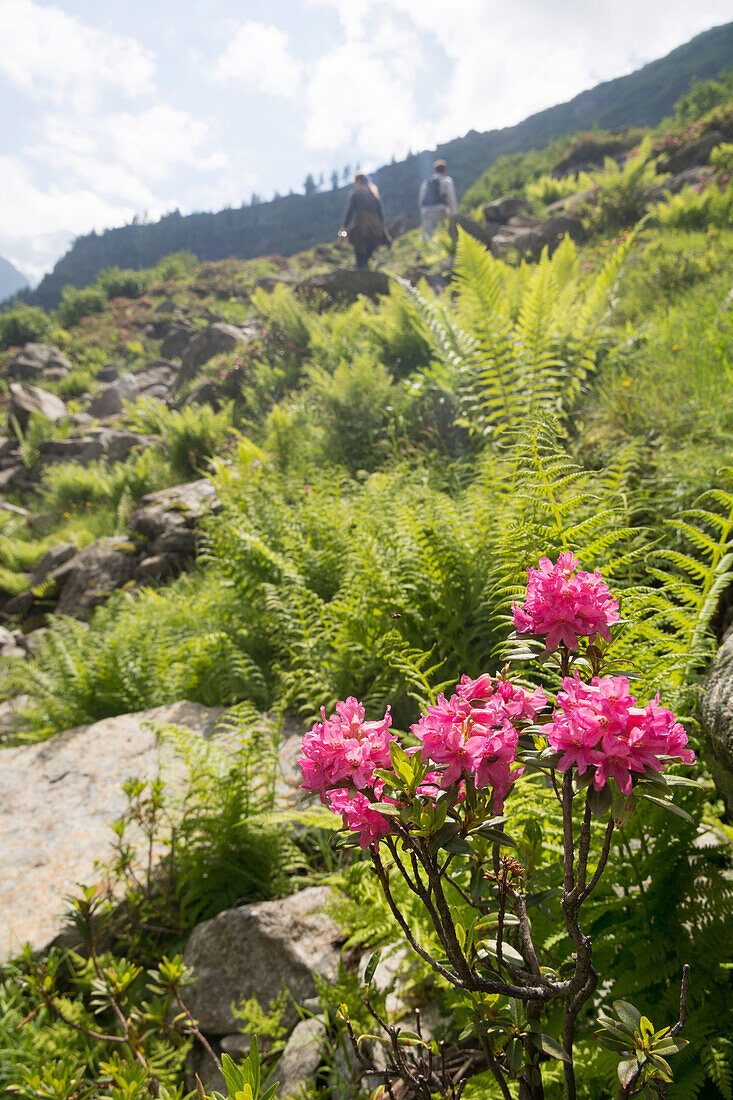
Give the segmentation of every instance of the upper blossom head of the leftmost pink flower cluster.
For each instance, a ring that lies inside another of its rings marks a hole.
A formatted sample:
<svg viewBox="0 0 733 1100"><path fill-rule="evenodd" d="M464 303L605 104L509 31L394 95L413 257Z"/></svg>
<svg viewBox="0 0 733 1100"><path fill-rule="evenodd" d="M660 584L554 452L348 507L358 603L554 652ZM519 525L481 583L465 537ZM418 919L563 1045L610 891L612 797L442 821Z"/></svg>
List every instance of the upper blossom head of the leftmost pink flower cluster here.
<svg viewBox="0 0 733 1100"><path fill-rule="evenodd" d="M330 787L370 787L375 770L390 767L390 744L396 739L390 733L390 707L380 722L365 722L364 708L353 696L337 703L336 711L327 718L321 707L322 721L304 736L298 759L302 788L320 791L321 802Z"/></svg>

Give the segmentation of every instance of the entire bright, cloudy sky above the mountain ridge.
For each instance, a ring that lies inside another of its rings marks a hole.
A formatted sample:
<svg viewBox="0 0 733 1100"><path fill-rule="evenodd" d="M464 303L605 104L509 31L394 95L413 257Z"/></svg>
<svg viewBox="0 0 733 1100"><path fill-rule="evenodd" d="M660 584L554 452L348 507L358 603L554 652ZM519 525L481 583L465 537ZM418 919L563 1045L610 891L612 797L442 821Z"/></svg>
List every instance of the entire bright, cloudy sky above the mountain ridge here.
<svg viewBox="0 0 733 1100"><path fill-rule="evenodd" d="M0 0L0 255L513 125L730 0Z"/></svg>

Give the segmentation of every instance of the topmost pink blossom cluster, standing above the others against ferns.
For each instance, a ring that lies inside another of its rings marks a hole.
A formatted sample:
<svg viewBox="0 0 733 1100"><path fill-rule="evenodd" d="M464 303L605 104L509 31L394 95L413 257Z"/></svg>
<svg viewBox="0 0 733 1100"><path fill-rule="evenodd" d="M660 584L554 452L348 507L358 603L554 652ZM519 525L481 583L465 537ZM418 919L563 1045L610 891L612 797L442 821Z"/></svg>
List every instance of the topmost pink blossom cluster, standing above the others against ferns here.
<svg viewBox="0 0 733 1100"><path fill-rule="evenodd" d="M514 626L518 634L545 637L547 652L565 644L578 649L579 638L600 635L611 640L611 626L619 622L619 603L599 572L576 572L580 562L562 553L554 565L539 559L539 569L527 570L527 597L519 607L513 604Z"/></svg>

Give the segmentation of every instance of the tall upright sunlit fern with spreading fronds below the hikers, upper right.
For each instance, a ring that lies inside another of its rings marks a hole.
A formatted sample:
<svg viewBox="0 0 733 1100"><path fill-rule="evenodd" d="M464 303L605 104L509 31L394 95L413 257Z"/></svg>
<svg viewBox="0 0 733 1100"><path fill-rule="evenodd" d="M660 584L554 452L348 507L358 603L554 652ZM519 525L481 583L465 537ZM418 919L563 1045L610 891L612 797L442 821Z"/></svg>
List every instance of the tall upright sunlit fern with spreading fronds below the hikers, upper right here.
<svg viewBox="0 0 733 1100"><path fill-rule="evenodd" d="M582 277L567 238L549 258L519 272L460 232L451 314L412 290L433 334L436 354L456 374L471 431L494 436L534 417L567 417L594 370L600 324L631 246L626 239L593 278Z"/></svg>

